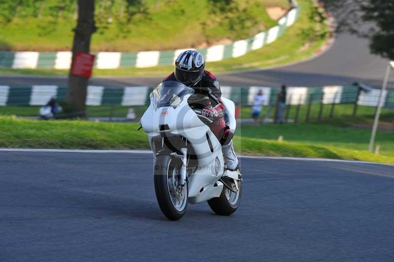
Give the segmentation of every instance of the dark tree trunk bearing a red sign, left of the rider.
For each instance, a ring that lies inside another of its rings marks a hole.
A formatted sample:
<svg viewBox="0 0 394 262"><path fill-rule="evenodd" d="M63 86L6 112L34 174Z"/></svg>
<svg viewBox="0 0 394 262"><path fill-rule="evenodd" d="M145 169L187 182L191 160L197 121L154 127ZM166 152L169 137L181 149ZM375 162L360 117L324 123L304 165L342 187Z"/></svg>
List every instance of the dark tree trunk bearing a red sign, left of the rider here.
<svg viewBox="0 0 394 262"><path fill-rule="evenodd" d="M76 52L90 52L90 40L96 32L95 24L95 0L78 0L78 22L74 29L74 41L72 45L72 64ZM82 112L86 110L86 95L89 78L68 75L68 90L66 102L73 111ZM81 114L84 115L84 114Z"/></svg>

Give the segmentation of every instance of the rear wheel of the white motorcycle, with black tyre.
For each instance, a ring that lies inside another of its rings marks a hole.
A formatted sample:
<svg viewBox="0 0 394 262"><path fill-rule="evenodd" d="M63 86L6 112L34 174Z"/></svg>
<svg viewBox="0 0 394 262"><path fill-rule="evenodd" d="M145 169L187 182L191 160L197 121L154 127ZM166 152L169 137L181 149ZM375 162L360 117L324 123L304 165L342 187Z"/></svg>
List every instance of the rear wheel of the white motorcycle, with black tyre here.
<svg viewBox="0 0 394 262"><path fill-rule="evenodd" d="M234 183L234 181L231 181L231 183ZM232 192L230 189L224 186L220 197L215 197L208 200L209 207L213 212L218 215L229 216L238 209L242 196L242 180L239 180L237 183L237 192ZM232 188L235 188L234 185L231 186Z"/></svg>

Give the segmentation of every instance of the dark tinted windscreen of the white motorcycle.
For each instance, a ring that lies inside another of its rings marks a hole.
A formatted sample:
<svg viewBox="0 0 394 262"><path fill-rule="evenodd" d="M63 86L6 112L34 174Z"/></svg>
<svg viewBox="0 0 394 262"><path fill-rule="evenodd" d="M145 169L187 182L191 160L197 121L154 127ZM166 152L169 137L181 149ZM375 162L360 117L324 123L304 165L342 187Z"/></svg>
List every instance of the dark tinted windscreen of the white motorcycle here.
<svg viewBox="0 0 394 262"><path fill-rule="evenodd" d="M176 108L184 96L194 94L194 89L176 81L165 81L153 90L152 98L156 108L172 106Z"/></svg>

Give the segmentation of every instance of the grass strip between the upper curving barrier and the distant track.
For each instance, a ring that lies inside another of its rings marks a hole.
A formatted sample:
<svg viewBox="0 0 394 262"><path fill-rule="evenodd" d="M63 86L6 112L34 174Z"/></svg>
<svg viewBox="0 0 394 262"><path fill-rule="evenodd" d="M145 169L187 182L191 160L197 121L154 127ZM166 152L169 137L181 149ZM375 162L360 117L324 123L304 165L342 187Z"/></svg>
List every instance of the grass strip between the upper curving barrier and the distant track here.
<svg viewBox="0 0 394 262"><path fill-rule="evenodd" d="M327 41L328 27L318 13L312 0L298 0L301 14L294 25L276 41L261 49L238 58L207 63L212 72L255 69L277 66L310 58ZM95 69L94 76L165 76L173 66L148 68ZM0 74L66 75L67 70L55 69L9 69L0 68ZM220 78L220 77L219 77Z"/></svg>

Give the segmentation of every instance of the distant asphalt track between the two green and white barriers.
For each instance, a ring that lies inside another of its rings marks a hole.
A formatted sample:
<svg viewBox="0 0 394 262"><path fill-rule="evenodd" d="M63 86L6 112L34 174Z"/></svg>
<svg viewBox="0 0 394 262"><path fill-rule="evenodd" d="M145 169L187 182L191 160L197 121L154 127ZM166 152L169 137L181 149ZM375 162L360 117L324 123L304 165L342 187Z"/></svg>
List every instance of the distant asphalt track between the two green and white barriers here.
<svg viewBox="0 0 394 262"><path fill-rule="evenodd" d="M217 75L222 86L289 86L351 85L360 81L373 87L381 87L387 61L370 55L368 40L347 33L339 34L332 47L323 55L296 65L266 70L233 72ZM209 68L207 68L209 70ZM170 72L168 72L170 73ZM164 75L165 76L165 75ZM98 86L157 86L163 77L94 77L91 85ZM394 73L389 88L393 88ZM66 86L65 77L47 78L38 76L0 76L0 85Z"/></svg>

